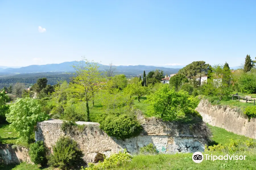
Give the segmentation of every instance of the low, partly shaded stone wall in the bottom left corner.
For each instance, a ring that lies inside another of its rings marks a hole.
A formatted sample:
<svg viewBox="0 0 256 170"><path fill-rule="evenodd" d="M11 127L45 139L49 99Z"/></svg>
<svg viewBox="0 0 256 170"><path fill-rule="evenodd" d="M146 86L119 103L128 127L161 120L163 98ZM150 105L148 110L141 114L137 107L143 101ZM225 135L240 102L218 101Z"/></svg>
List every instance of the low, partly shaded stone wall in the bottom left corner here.
<svg viewBox="0 0 256 170"><path fill-rule="evenodd" d="M28 148L17 146L13 149L11 145L0 145L0 163L17 164L20 162L31 163Z"/></svg>

